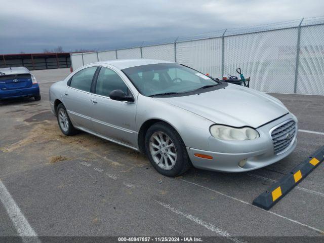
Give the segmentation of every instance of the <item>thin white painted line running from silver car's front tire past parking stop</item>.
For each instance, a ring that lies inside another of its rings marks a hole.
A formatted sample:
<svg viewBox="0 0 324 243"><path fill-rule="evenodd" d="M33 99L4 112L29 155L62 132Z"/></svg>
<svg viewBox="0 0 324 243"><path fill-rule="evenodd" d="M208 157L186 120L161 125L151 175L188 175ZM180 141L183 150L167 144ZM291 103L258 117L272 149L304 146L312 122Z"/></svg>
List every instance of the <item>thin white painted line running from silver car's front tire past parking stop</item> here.
<svg viewBox="0 0 324 243"><path fill-rule="evenodd" d="M256 209L262 210L262 211L267 212L267 213L269 213L269 214L275 215L275 216L280 217L280 218L282 218L282 219L286 219L286 220L288 220L288 221L290 221L290 222L293 222L293 223L299 224L299 225L301 225L301 226L307 227L307 228L312 229L312 230L315 230L315 231L317 231L317 232L319 232L319 233L321 233L321 234L324 234L324 231L322 231L322 230L320 230L320 229L317 229L317 228L312 227L312 226L307 225L307 224L303 224L303 223L301 223L301 222L299 222L299 221L297 221L297 220L293 220L293 219L287 218L287 217L282 216L282 215L280 215L280 214L276 214L276 213L274 213L274 212L272 212L272 211L261 209L261 208L259 208L259 207L257 207L257 206L254 206L254 205L248 203L247 201L244 201L244 200L238 199L238 198L233 197L233 196L230 196L230 195L226 195L226 194L224 194L224 193L222 193L222 192L220 192L220 191L216 191L216 190L211 189L211 188L209 188L209 187L202 186L202 185L199 185L199 184L196 184L196 183L193 183L193 182L190 182L190 181L184 180L184 179L180 179L180 180L181 180L181 181L184 181L184 182L186 182L186 183L189 183L189 184L192 184L192 185L195 185L195 186L198 186L198 187L204 188L204 189L206 189L206 190L213 191L213 192L215 192L215 193L217 193L217 194L220 194L220 195L222 195L222 196L225 196L225 197L227 197L227 198L230 198L230 199L233 199L233 200L239 201L239 202L242 203L242 204L249 205L249 206L254 207L254 208L256 208Z"/></svg>

